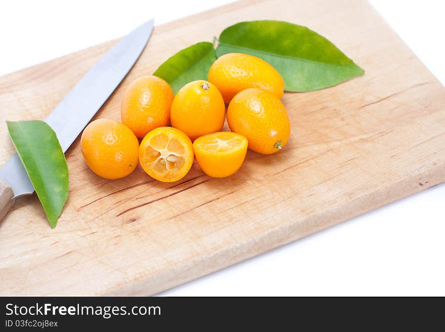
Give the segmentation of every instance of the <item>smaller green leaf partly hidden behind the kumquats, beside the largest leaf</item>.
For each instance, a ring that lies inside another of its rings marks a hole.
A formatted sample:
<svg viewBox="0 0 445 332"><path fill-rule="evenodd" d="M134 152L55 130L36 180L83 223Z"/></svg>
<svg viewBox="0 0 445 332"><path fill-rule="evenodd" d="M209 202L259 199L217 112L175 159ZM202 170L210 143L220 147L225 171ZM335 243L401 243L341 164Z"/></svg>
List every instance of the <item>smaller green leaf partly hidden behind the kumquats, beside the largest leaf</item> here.
<svg viewBox="0 0 445 332"><path fill-rule="evenodd" d="M198 79L208 79L208 71L216 60L211 42L203 41L170 57L153 75L166 80L176 94L185 84Z"/></svg>

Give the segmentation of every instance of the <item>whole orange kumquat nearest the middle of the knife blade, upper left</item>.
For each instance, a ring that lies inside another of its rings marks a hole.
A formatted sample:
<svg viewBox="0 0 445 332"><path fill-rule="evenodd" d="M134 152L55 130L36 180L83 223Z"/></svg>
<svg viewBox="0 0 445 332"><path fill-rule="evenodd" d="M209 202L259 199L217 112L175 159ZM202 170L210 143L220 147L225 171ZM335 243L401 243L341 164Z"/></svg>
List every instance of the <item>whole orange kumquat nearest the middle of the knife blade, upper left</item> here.
<svg viewBox="0 0 445 332"><path fill-rule="evenodd" d="M140 138L154 128L167 126L173 97L173 90L162 78L138 78L128 85L123 94L120 107L122 122Z"/></svg>

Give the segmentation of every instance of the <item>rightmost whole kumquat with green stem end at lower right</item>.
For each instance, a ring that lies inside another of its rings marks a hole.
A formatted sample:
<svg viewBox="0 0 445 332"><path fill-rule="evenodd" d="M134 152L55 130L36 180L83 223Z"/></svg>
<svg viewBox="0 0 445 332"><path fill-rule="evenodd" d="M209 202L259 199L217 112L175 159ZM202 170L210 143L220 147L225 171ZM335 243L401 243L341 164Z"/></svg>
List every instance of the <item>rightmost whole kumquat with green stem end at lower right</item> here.
<svg viewBox="0 0 445 332"><path fill-rule="evenodd" d="M236 94L227 110L230 130L247 137L249 149L271 154L284 148L290 135L283 103L272 93L249 88Z"/></svg>

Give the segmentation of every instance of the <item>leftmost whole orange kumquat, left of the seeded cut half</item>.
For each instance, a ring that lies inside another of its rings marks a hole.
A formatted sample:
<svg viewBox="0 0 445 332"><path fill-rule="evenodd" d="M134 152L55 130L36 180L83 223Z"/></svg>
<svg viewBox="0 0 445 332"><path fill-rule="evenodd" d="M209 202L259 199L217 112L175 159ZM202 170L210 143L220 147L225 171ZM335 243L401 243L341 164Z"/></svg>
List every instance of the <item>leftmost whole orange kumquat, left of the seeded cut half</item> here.
<svg viewBox="0 0 445 332"><path fill-rule="evenodd" d="M86 126L80 149L88 167L106 179L119 179L138 165L139 141L124 124L98 119Z"/></svg>

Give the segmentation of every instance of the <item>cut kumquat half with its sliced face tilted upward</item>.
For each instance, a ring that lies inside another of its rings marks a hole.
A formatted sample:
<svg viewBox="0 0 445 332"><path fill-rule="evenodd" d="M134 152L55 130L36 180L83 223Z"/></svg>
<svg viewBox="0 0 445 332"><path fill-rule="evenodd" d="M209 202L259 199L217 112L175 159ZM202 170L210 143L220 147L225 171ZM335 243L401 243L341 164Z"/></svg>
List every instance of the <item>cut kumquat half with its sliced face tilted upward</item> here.
<svg viewBox="0 0 445 332"><path fill-rule="evenodd" d="M226 177L242 165L247 138L231 131L219 131L198 137L193 150L199 166L209 176Z"/></svg>

